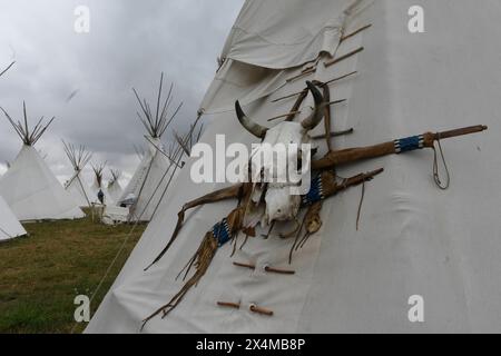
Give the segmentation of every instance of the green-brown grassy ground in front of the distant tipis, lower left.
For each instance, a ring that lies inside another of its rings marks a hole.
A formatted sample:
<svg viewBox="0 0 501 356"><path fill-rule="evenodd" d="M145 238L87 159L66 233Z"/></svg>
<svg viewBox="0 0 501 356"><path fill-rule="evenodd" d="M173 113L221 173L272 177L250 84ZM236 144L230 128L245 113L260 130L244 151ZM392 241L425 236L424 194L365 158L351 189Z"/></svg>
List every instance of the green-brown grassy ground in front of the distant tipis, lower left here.
<svg viewBox="0 0 501 356"><path fill-rule="evenodd" d="M73 299L90 296L131 226L89 218L26 224L30 237L0 244L0 333L70 333ZM91 305L92 313L143 234L138 226ZM79 333L86 325L78 325Z"/></svg>

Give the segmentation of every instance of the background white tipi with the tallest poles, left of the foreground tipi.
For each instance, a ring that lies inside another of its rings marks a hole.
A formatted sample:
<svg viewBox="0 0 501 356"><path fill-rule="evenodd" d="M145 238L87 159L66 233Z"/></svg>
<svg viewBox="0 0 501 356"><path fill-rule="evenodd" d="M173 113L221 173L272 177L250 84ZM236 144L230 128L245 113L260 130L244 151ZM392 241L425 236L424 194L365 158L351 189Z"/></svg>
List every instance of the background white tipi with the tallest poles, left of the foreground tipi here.
<svg viewBox="0 0 501 356"><path fill-rule="evenodd" d="M160 78L156 111L154 112L151 112L149 105L141 101L137 91L134 90L143 112L139 119L148 135L146 136L147 149L143 160L117 201L117 205L124 202L130 205L129 221L149 221L151 219L169 184L169 169L175 165L175 162L173 164L175 157L168 157L168 152L165 151L161 144L161 137L179 112L183 103L179 103L176 110L169 113L174 86L170 86L167 97L163 100L163 82L164 73Z"/></svg>

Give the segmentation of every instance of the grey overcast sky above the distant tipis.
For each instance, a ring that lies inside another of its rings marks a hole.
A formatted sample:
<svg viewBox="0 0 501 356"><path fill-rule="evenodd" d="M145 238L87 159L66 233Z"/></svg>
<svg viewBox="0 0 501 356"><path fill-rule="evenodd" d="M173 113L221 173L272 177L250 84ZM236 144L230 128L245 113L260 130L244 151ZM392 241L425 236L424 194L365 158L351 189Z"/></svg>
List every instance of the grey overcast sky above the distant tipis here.
<svg viewBox="0 0 501 356"><path fill-rule="evenodd" d="M243 2L0 0L0 70L17 62L0 77L0 106L21 119L26 100L31 122L57 117L36 147L60 180L72 170L61 138L130 177L138 164L134 145L144 145L145 135L131 88L155 101L164 71L175 82L175 101L184 101L177 125L193 121ZM90 10L89 33L75 31L78 6ZM2 115L0 174L20 148Z"/></svg>

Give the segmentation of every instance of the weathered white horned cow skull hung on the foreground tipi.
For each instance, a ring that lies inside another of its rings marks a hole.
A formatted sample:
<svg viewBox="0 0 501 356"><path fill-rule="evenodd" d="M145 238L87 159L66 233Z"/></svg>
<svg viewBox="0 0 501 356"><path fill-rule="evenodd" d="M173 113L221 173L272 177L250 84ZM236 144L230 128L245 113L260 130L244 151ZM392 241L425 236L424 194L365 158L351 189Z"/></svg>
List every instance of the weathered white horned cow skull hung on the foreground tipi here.
<svg viewBox="0 0 501 356"><path fill-rule="evenodd" d="M320 90L312 82L307 81L306 85L312 92L314 108L312 113L301 123L284 121L273 128L266 128L249 119L242 110L239 102L235 102L238 121L247 131L262 139L262 148L276 147L279 144L283 147L295 145L294 147L301 148L302 145L311 142L308 132L322 121L324 109L327 103ZM253 157L257 154L259 152L253 151ZM297 186L297 182L287 180L276 181L276 178L278 178L278 176L287 177L287 171L291 167L297 169L301 157L301 149L288 149L285 165L278 162L274 156L271 160L265 160L263 166L261 166L263 171L259 174L272 179L267 179L268 182L266 185L256 186L256 194L253 200L258 202L263 189L266 189L264 196L266 205L264 222L266 225L272 221L288 221L296 218L301 206L301 196L291 194L291 188Z"/></svg>

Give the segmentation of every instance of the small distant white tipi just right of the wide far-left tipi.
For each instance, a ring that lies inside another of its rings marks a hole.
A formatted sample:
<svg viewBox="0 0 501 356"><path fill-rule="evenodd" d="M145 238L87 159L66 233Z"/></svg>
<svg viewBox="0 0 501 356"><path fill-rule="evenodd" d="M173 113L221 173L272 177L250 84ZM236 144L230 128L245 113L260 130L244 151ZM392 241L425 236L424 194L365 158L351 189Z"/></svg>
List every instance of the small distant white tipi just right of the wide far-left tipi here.
<svg viewBox="0 0 501 356"><path fill-rule="evenodd" d="M65 141L62 144L65 145L66 155L73 167L73 175L66 184L65 189L78 202L78 206L90 207L94 201L94 195L87 186L81 172L92 158L92 154L88 152L84 146L77 148Z"/></svg>

